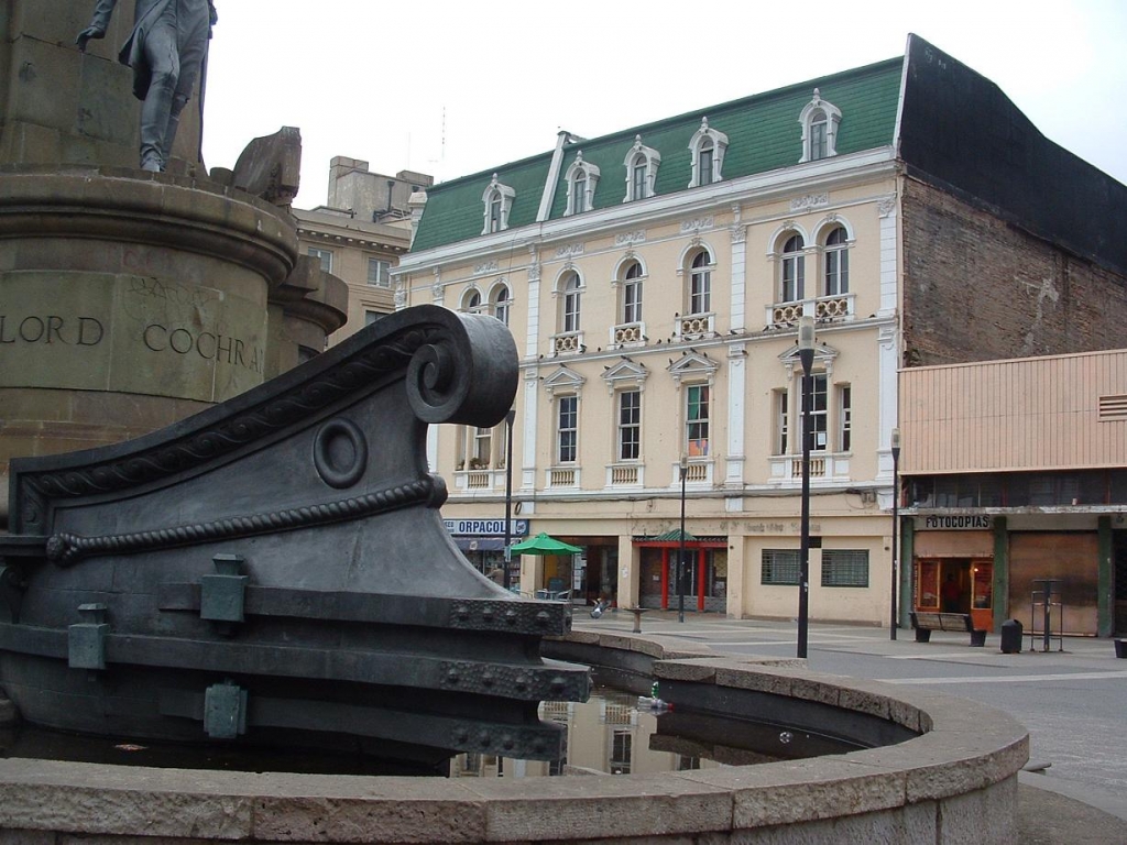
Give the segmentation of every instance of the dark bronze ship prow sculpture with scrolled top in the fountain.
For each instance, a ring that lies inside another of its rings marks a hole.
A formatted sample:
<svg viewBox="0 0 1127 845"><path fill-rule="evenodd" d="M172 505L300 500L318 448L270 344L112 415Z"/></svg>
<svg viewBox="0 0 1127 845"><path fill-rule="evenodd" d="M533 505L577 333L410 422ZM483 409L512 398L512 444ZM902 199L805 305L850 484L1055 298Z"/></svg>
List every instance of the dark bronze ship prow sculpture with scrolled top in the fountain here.
<svg viewBox="0 0 1127 845"><path fill-rule="evenodd" d="M424 305L135 441L12 461L0 685L33 723L171 740L554 759L542 659L570 608L522 598L443 527L427 426L492 426L517 353Z"/></svg>

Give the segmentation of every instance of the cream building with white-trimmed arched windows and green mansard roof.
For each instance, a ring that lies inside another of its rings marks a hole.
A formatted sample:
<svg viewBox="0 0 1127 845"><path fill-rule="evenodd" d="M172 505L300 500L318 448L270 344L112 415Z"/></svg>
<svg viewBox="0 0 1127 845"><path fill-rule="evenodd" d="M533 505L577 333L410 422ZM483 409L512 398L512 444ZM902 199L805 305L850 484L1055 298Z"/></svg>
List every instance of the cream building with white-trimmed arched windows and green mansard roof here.
<svg viewBox="0 0 1127 845"><path fill-rule="evenodd" d="M991 99L988 80L937 55L912 36L887 62L603 137L562 132L550 152L428 192L399 296L509 326L521 355L515 527L583 549L521 558L512 572L522 592L677 607L684 540L685 610L793 617L796 327L807 314L816 320L810 616L887 624L899 367L1013 356L1021 343L1111 345L1116 313L1127 313L1112 284L1122 256L1106 260L1111 269L1093 287L1111 302L1107 319L1046 330L1056 302L1029 301L1020 273L1001 267L1033 255L1030 243L1038 260L1059 260L1075 239L1065 222L1030 233L1032 221L1020 243L982 234L1000 221L983 201L1005 210L1017 199L1008 184L969 193L979 187L967 150L980 145L986 167L1005 150L960 124L958 104L944 112L943 92L958 83L984 108L1020 113ZM1047 143L1038 139L1030 127L1028 142ZM1023 178L1048 190L1068 172ZM999 268L996 301L960 264L976 252L979 272ZM962 337L976 321L996 326L1001 309L1032 320L1035 306L1039 322L1023 335ZM432 430L451 524L504 526L505 438L504 424ZM500 560L496 528L454 534L483 570Z"/></svg>

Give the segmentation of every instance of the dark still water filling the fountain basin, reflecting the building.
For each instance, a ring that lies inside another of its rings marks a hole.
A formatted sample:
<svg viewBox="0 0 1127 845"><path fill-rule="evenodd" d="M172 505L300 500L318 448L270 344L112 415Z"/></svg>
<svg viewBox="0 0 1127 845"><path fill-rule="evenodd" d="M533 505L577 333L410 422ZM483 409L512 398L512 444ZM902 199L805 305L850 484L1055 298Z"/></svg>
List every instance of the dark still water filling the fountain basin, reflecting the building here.
<svg viewBox="0 0 1127 845"><path fill-rule="evenodd" d="M582 704L543 702L540 718L566 730L562 759L518 760L459 754L450 760L450 775L651 774L842 754L859 747L795 727L680 706L662 712L639 704L637 694L610 687L596 687L591 700ZM261 747L243 742L170 744L78 736L24 726L0 730L0 757L243 772L431 776L446 772L445 754L437 750L433 759L421 760L397 754L401 749L391 742L328 748L323 742L302 742L296 731L286 731L272 740Z"/></svg>

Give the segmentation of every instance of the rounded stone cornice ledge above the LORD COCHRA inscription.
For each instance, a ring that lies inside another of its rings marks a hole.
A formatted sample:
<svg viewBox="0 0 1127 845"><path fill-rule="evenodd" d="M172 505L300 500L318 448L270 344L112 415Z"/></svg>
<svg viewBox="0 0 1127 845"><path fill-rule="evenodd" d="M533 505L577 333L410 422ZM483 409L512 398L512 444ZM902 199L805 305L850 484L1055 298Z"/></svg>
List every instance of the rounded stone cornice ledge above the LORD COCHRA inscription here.
<svg viewBox="0 0 1127 845"><path fill-rule="evenodd" d="M270 286L298 257L292 216L207 179L127 168L0 168L0 238L95 238L210 256Z"/></svg>

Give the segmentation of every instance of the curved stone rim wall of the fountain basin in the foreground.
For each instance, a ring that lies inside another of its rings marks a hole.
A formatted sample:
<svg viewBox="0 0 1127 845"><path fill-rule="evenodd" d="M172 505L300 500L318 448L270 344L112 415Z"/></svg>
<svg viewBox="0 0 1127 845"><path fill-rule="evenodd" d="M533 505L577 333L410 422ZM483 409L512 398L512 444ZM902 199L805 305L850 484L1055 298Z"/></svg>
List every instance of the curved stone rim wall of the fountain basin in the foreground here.
<svg viewBox="0 0 1127 845"><path fill-rule="evenodd" d="M0 842L1015 843L1029 736L951 696L709 657L673 638L575 632L548 656L649 669L682 692L764 693L919 733L833 757L658 775L410 779L0 760ZM712 687L712 690L708 690Z"/></svg>

